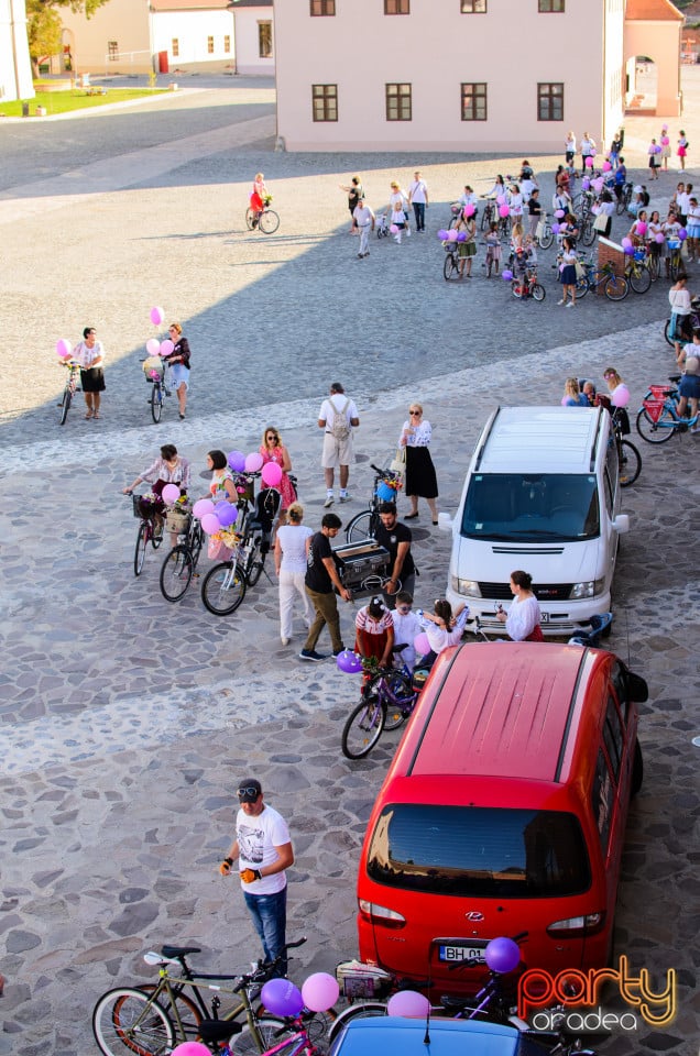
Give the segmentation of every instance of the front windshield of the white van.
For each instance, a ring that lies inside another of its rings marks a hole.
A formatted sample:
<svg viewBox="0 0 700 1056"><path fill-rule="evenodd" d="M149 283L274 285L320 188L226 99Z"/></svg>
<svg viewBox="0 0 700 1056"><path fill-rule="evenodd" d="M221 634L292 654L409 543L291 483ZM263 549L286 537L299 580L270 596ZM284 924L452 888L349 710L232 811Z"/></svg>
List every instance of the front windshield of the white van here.
<svg viewBox="0 0 700 1056"><path fill-rule="evenodd" d="M462 536L542 542L595 539L595 474L475 473L467 492Z"/></svg>

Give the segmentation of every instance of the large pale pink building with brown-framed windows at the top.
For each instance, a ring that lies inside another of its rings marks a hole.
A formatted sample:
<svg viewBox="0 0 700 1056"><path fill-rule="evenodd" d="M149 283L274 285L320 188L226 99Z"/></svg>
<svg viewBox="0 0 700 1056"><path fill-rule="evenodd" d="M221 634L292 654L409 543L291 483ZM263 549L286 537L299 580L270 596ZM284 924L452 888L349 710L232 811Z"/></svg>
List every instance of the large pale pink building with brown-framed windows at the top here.
<svg viewBox="0 0 700 1056"><path fill-rule="evenodd" d="M625 7L284 0L278 135L291 151L559 153L569 130L609 143L627 95ZM663 58L677 82L679 55Z"/></svg>

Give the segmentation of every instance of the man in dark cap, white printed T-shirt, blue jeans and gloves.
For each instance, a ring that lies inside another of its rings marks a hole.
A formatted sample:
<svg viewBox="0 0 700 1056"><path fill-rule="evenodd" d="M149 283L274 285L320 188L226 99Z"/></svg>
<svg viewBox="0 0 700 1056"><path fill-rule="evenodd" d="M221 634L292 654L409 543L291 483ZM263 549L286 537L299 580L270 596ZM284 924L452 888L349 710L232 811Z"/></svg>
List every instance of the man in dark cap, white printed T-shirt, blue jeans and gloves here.
<svg viewBox="0 0 700 1056"><path fill-rule="evenodd" d="M287 879L285 869L294 865L294 850L287 823L263 802L256 778L247 778L238 789L240 810L236 816L236 839L228 858L219 866L229 876L238 859L245 905L262 941L266 960L274 960L285 945L287 919ZM286 958L276 975L285 976Z"/></svg>

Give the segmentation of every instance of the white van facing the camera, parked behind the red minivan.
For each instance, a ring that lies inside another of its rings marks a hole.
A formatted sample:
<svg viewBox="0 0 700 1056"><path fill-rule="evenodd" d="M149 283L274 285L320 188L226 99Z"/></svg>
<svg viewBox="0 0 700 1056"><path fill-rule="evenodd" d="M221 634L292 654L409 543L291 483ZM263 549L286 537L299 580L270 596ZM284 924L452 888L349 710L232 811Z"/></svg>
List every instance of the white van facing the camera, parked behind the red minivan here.
<svg viewBox="0 0 700 1056"><path fill-rule="evenodd" d="M472 455L452 521L447 597L467 602L486 631L503 632L523 569L545 635L570 635L611 608L619 537L617 448L602 407L505 407L491 416Z"/></svg>

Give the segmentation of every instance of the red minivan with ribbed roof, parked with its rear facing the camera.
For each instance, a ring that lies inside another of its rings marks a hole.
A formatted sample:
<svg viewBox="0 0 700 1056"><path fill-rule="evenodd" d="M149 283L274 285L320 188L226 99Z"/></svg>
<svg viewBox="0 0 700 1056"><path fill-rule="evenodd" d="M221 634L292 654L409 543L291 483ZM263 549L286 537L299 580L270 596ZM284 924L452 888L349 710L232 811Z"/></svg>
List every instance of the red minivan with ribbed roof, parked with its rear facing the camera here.
<svg viewBox="0 0 700 1056"><path fill-rule="evenodd" d="M606 965L646 697L598 649L441 653L368 824L360 957L455 992L483 982L500 935L527 933L527 968Z"/></svg>

